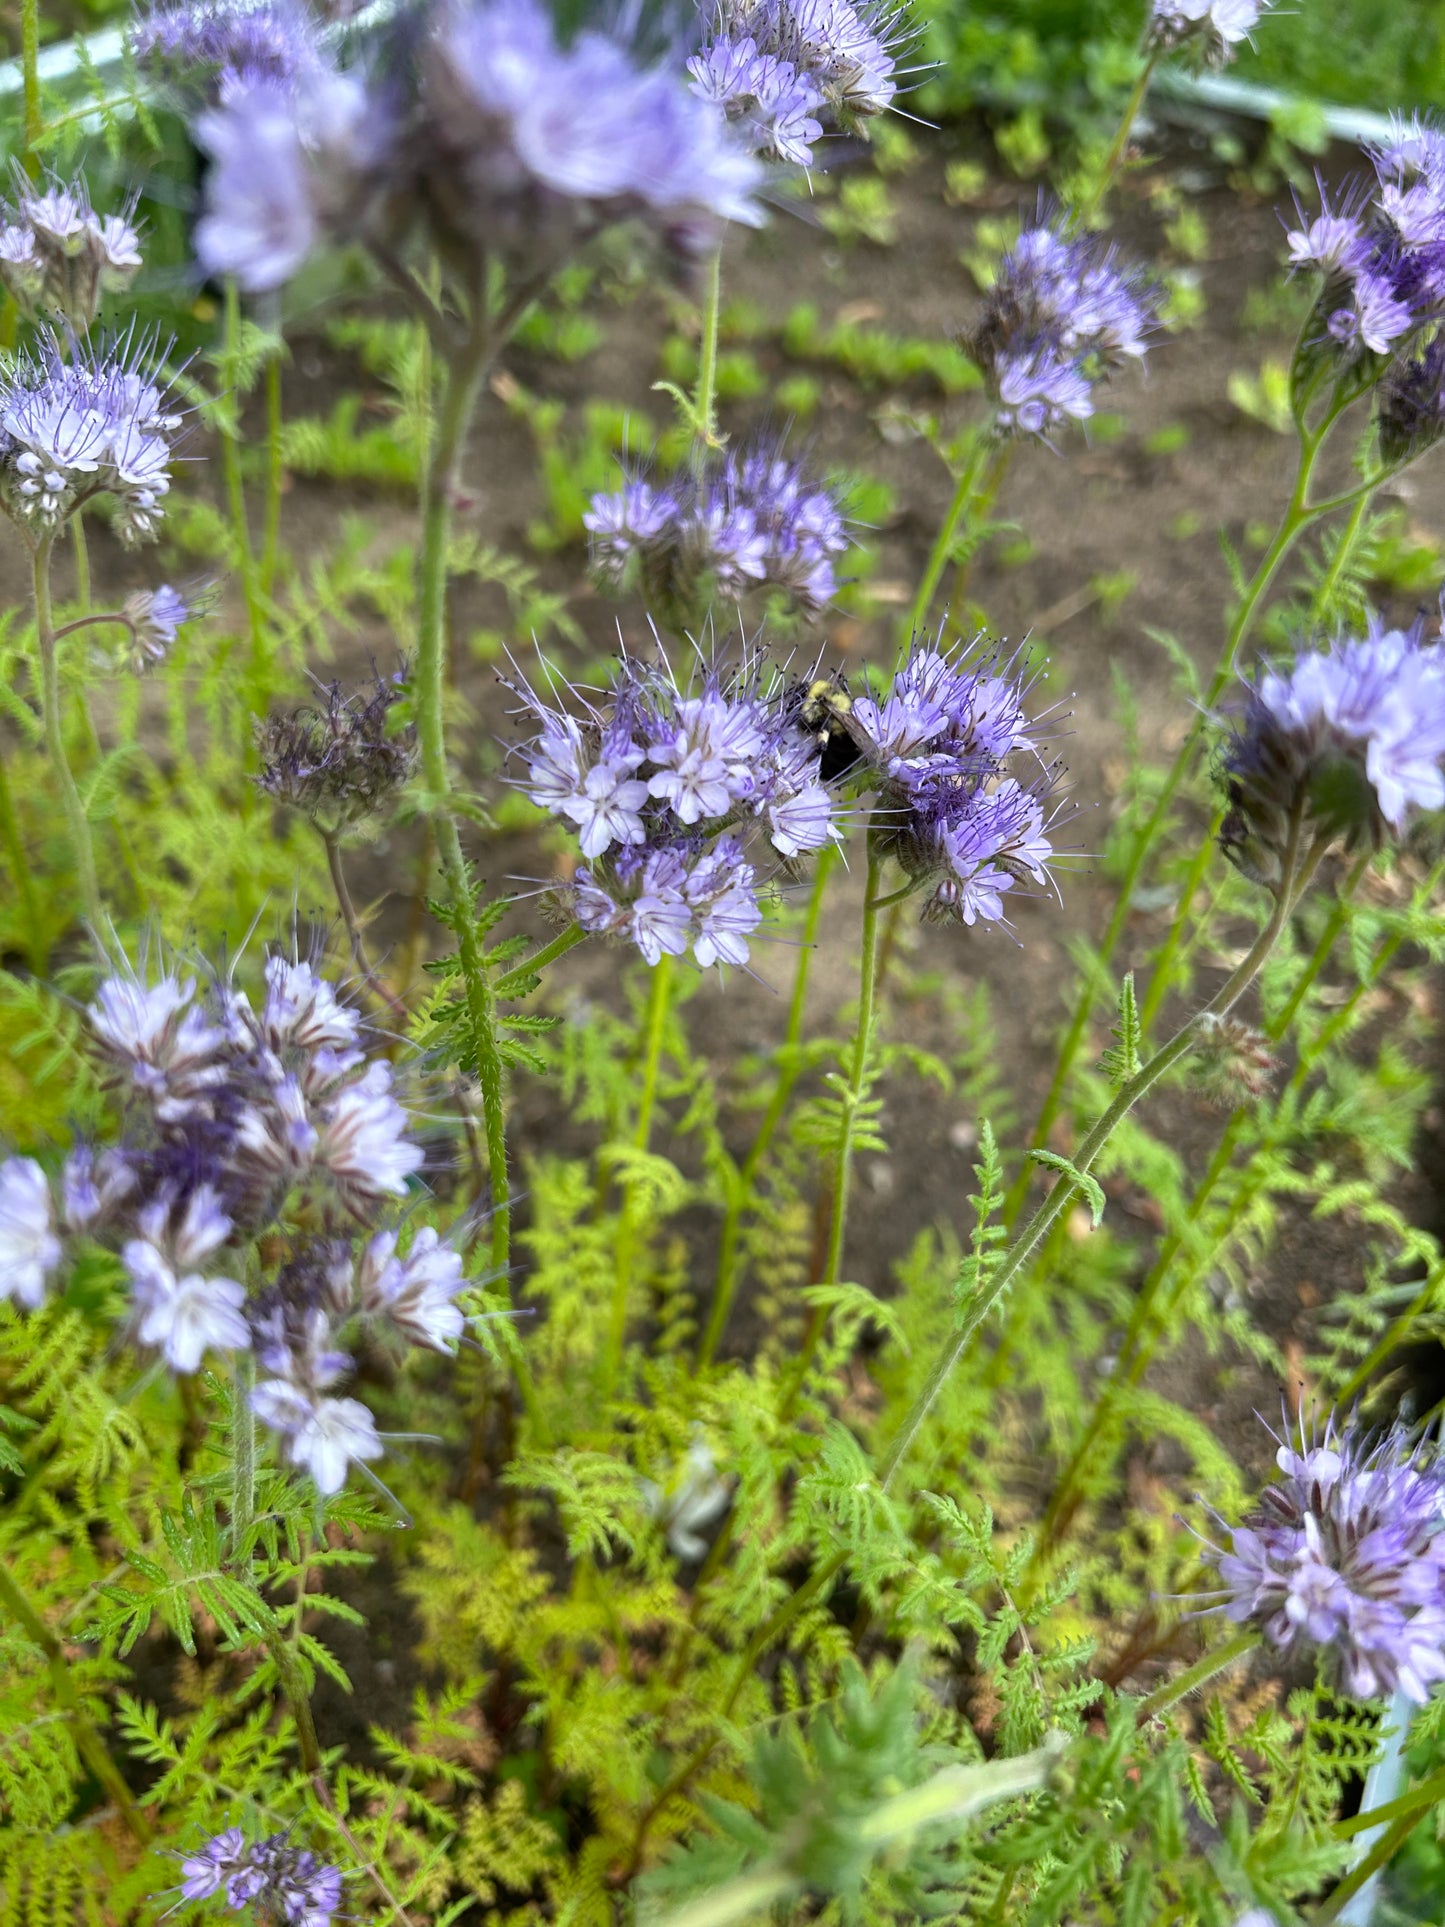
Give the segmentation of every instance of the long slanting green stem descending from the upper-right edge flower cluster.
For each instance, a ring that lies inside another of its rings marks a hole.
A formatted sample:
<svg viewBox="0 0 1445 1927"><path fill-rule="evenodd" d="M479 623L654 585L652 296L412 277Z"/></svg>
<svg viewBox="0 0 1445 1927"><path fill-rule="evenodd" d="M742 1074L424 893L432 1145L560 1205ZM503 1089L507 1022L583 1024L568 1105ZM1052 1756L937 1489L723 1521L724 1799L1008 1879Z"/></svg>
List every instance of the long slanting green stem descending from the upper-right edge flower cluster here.
<svg viewBox="0 0 1445 1927"><path fill-rule="evenodd" d="M1064 1033L1064 1043L1060 1046L1058 1062L1054 1064L1054 1077L1048 1085L1048 1093L1044 1095L1044 1102L1038 1110L1038 1118L1033 1127L1035 1145L1048 1143L1048 1133L1054 1127L1054 1120L1064 1108L1064 1093L1073 1073L1073 1064L1079 1056L1083 1041L1089 1033L1089 1019L1094 1014L1094 1002L1098 996L1098 977L1108 969L1110 962L1114 960L1114 952L1119 946L1119 938L1123 937L1123 931L1129 923L1129 913L1133 910L1135 890L1139 888L1141 877L1144 873L1144 863L1154 852L1154 844L1158 842L1164 831L1164 823L1168 819L1179 784L1185 780L1185 775L1193 767L1195 755L1200 748L1200 742L1204 740L1206 719L1214 709L1214 705L1218 703L1220 696L1223 694L1223 688L1229 682L1231 674L1235 673L1239 651L1243 649L1245 642L1248 640L1254 628L1260 605L1270 590L1270 584L1279 572L1279 565L1283 563L1285 555L1295 545L1302 530L1329 513L1331 507L1329 503L1310 505L1308 495L1320 449L1324 447L1324 441L1337 418L1337 412L1339 412L1337 409L1331 409L1314 430L1308 432L1300 430L1299 466L1295 470L1295 488L1291 491L1289 505L1285 507L1285 513L1279 520L1279 528L1275 530L1274 540L1270 541L1270 547L1260 559L1260 565L1254 570L1248 586L1239 597L1235 613L1229 620L1223 653L1220 655L1220 661L1214 669L1214 676L1210 678L1208 690L1200 705L1204 715L1179 746L1179 752L1164 777L1164 784L1160 786L1160 792L1154 798L1154 804L1144 823L1135 832L1135 838L1129 846L1129 856L1125 861L1123 877L1119 881L1114 911L1110 915L1108 927L1098 946L1096 967L1085 977L1085 981L1079 987L1079 996L1069 1016L1069 1025ZM1150 992L1154 992L1154 989L1156 987L1150 985ZM1168 983L1160 981L1158 998L1162 998L1166 990ZM1017 1179L1010 1187L1008 1199L1004 1201L1004 1222L1010 1226L1017 1220L1019 1210L1023 1208L1023 1202L1029 1195L1029 1177L1031 1172L1029 1166L1025 1164Z"/></svg>

